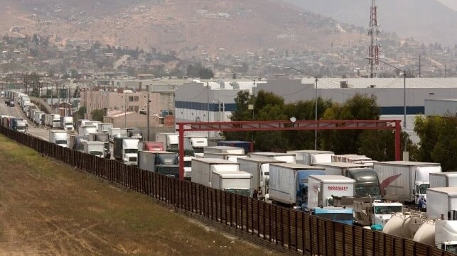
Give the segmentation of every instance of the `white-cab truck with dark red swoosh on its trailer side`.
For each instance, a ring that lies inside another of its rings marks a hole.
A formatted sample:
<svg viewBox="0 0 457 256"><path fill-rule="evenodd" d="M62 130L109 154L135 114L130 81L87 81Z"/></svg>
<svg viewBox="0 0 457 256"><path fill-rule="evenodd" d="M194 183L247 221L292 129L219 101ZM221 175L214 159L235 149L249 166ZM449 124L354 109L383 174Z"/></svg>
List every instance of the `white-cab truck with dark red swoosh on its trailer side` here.
<svg viewBox="0 0 457 256"><path fill-rule="evenodd" d="M441 172L441 165L433 162L387 161L373 162L373 169L380 179L381 194L384 199L419 204L426 199L430 187L429 175Z"/></svg>

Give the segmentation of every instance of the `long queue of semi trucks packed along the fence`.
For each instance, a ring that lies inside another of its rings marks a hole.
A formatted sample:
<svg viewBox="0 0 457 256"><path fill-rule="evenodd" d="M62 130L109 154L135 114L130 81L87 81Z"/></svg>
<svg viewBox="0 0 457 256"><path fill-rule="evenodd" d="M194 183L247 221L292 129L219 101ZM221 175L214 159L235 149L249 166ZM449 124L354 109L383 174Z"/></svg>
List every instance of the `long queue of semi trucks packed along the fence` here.
<svg viewBox="0 0 457 256"><path fill-rule="evenodd" d="M89 120L78 120L75 133L72 117L45 114L25 94L5 96L47 127L52 143L178 177L177 133L143 141L139 128ZM25 132L27 121L1 116L1 126ZM249 142L208 146L202 135L184 143L185 179L192 182L457 252L457 172L441 172L439 163L377 162L320 150L249 152Z"/></svg>

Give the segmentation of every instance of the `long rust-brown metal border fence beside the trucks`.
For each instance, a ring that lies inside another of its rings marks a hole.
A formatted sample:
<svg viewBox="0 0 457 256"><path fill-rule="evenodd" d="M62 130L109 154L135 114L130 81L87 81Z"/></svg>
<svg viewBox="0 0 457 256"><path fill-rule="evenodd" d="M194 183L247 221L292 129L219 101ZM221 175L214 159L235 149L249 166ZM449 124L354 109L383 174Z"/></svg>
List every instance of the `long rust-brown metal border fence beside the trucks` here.
<svg viewBox="0 0 457 256"><path fill-rule="evenodd" d="M63 148L24 133L0 132L37 152L150 196L199 221L253 243L289 255L424 255L450 256L432 245L311 216L247 196L166 177L83 152Z"/></svg>

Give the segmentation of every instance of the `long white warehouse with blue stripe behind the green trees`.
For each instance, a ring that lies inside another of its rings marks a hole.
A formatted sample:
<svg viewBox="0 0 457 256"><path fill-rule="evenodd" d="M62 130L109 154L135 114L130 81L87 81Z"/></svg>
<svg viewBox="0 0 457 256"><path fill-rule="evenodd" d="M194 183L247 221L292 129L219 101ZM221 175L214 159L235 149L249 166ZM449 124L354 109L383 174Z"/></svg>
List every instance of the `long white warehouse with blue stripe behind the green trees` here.
<svg viewBox="0 0 457 256"><path fill-rule="evenodd" d="M176 90L176 121L230 121L235 110L234 99L240 90L252 94L263 89L284 98L286 103L315 99L313 77L276 77L266 81L192 82ZM253 90L254 89L254 90ZM404 92L406 99L404 100ZM382 119L400 119L404 126L404 106L407 132L412 133L414 117L425 113L426 99L457 99L457 78L319 78L317 96L343 103L355 94L375 95Z"/></svg>

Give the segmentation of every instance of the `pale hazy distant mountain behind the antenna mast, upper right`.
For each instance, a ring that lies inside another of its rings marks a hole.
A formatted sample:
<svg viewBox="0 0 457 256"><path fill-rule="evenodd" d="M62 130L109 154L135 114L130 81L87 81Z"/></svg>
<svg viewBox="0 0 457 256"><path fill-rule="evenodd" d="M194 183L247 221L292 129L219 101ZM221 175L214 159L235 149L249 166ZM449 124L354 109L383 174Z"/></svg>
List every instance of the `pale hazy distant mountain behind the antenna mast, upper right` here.
<svg viewBox="0 0 457 256"><path fill-rule="evenodd" d="M319 13L337 21L368 28L371 1L360 0L284 0L306 11ZM448 6L441 3L448 4ZM395 32L400 38L413 37L426 44L457 44L456 1L443 0L376 1L381 29Z"/></svg>

